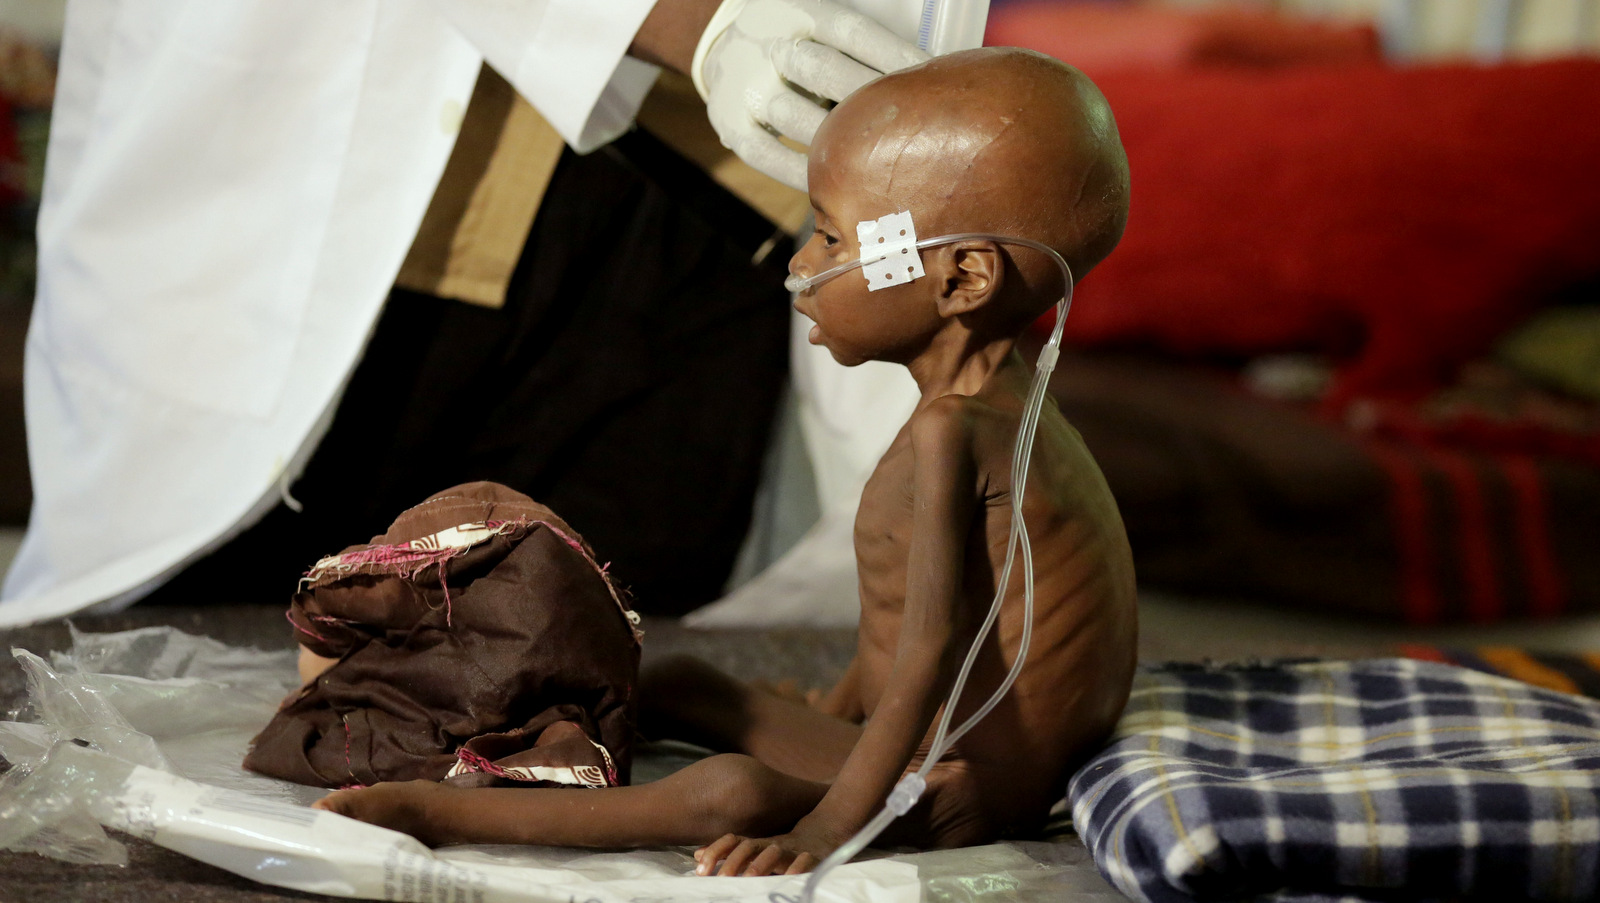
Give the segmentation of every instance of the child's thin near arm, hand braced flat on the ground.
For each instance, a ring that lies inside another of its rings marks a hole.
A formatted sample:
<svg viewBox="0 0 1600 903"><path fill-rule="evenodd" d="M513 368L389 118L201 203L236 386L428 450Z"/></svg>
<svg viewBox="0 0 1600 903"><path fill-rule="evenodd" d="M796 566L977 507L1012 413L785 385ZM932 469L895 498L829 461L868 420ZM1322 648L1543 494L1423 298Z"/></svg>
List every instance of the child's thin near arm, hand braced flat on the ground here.
<svg viewBox="0 0 1600 903"><path fill-rule="evenodd" d="M722 874L805 871L877 815L926 736L965 653L957 640L970 636L962 581L978 480L965 403L939 399L912 423L915 476L901 632L861 741L822 801L789 834L723 837L698 853L702 874L718 860Z"/></svg>

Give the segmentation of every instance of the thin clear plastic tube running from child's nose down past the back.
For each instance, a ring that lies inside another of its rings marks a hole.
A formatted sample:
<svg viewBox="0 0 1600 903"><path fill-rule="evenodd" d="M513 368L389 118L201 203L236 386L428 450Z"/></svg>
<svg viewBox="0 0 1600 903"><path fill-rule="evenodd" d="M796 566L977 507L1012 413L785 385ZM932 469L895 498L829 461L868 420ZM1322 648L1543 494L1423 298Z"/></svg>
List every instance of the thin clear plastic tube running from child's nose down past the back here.
<svg viewBox="0 0 1600 903"><path fill-rule="evenodd" d="M995 584L995 599L994 604L989 605L989 615L978 629L978 636L973 637L973 647L966 652L966 658L962 661L962 669L955 676L955 684L950 687L950 696L944 703L944 712L939 717L939 727L933 733L933 744L928 749L928 757L923 759L920 769L902 777L899 783L894 785L888 801L885 801L883 810L878 812L872 821L858 831L854 837L846 841L845 845L838 847L826 860L818 863L816 869L813 869L806 877L805 890L800 892L800 903L811 903L816 887L822 882L822 877L829 871L854 858L856 853L864 850L867 844L877 839L877 836L890 826L890 821L906 815L906 812L917 804L917 799L926 788L926 777L933 765L944 757L944 754L955 744L957 740L962 738L962 735L971 730L979 720L984 719L984 716L1000 704L1000 700L1016 682L1018 674L1022 672L1022 663L1027 660L1027 647L1034 639L1034 549L1027 541L1027 524L1022 520L1022 496L1027 490L1027 468L1034 460L1034 434L1038 431L1038 416L1045 408L1045 394L1050 386L1050 375L1056 368L1056 359L1061 357L1061 330L1066 327L1067 312L1072 309L1072 267L1069 267L1067 261L1062 259L1061 255L1050 245L1032 239L1018 239L1014 235L990 235L986 232L936 235L933 239L918 240L917 250L922 251L923 248L970 240L1021 245L1024 248L1040 251L1061 267L1062 279L1061 301L1056 303L1056 325L1050 331L1050 341L1046 341L1043 351L1038 352L1038 365L1034 370L1034 383L1029 386L1027 399L1022 402L1022 423L1018 426L1016 443L1011 447L1011 536L1006 541L1005 565L1000 568L1000 578ZM874 261L854 259L810 277L790 275L784 285L790 291L808 291L867 263ZM950 730L950 717L955 714L955 703L962 698L962 690L966 687L966 679L973 671L973 663L978 661L978 652L982 648L984 640L989 637L989 631L1000 618L1000 607L1005 602L1006 586L1011 583L1011 565L1016 562L1018 551L1022 554L1022 637L1018 642L1016 661L1011 664L1005 680L1000 682L1000 687L995 688L989 700L955 730Z"/></svg>

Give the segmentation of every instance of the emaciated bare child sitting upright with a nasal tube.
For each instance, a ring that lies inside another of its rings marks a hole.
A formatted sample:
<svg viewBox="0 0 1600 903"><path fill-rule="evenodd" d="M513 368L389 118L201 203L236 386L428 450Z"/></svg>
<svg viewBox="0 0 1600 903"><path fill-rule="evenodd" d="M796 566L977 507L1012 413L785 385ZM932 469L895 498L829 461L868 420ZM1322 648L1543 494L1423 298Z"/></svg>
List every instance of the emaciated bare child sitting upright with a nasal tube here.
<svg viewBox="0 0 1600 903"><path fill-rule="evenodd" d="M856 224L910 211L922 235L1043 242L1082 277L1117 245L1126 160L1099 91L1016 50L934 59L862 88L816 134L816 234L790 269L859 258ZM811 341L846 365L904 363L922 391L861 498L856 658L810 703L694 661L648 669L640 732L725 754L610 789L458 789L426 781L318 805L429 844L696 844L701 874L798 873L838 849L920 765L930 725L989 612L1011 527L1011 451L1030 368L1021 331L1062 291L1046 255L990 240L922 251L926 275L867 291L856 275L806 290ZM933 767L882 837L952 847L1037 828L1115 724L1134 668L1134 575L1122 519L1078 434L1046 403L1024 500L1035 567L1021 677ZM955 717L1010 669L1022 629L1013 572Z"/></svg>

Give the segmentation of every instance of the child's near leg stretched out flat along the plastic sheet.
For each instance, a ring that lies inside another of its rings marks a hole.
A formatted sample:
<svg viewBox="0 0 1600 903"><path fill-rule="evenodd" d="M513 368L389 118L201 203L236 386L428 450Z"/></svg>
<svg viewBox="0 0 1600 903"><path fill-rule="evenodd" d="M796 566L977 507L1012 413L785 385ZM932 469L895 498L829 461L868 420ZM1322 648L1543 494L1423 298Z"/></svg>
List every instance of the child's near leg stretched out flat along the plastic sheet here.
<svg viewBox="0 0 1600 903"><path fill-rule="evenodd" d="M650 847L709 844L730 833L781 834L826 793L824 783L794 778L749 756L714 756L627 788L462 789L406 781L338 791L315 805L429 845Z"/></svg>

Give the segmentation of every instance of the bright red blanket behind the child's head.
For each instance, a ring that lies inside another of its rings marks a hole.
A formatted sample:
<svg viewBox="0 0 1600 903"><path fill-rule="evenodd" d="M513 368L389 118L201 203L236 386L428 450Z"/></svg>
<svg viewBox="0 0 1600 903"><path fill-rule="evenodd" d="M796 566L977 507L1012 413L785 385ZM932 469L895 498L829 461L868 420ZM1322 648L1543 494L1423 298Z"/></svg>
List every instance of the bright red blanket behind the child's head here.
<svg viewBox="0 0 1600 903"><path fill-rule="evenodd" d="M1101 74L1133 168L1067 335L1405 395L1600 279L1600 62Z"/></svg>

